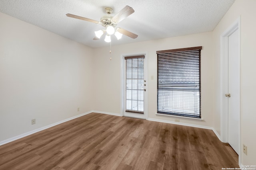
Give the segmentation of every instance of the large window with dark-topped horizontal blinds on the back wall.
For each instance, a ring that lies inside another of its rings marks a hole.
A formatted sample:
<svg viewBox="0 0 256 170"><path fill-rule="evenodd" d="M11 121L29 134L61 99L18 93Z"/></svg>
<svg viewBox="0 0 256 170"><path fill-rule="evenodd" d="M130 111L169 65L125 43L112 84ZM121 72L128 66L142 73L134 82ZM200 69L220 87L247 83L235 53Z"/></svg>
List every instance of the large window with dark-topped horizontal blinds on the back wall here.
<svg viewBox="0 0 256 170"><path fill-rule="evenodd" d="M156 51L157 113L201 118L201 49Z"/></svg>

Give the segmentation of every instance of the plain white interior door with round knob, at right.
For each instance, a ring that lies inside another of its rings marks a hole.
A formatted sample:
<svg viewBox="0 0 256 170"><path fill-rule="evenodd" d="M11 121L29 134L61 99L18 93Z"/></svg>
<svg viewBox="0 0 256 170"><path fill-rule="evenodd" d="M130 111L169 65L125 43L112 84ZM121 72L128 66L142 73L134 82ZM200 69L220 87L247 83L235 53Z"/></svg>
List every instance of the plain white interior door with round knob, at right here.
<svg viewBox="0 0 256 170"><path fill-rule="evenodd" d="M228 37L228 143L238 153L240 78L239 78L239 35L238 30Z"/></svg>

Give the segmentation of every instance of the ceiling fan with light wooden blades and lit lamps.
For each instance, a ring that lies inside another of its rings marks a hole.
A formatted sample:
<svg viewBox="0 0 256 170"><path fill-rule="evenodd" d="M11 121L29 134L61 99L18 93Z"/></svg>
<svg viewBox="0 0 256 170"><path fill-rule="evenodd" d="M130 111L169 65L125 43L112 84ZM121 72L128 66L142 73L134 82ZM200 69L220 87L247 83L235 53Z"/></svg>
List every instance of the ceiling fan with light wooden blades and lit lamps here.
<svg viewBox="0 0 256 170"><path fill-rule="evenodd" d="M138 35L127 31L126 29L122 29L120 27L116 27L117 23L124 20L124 18L130 16L132 13L134 13L134 10L130 6L125 6L122 10L120 10L115 16L111 16L110 14L113 12L112 8L105 8L107 15L100 18L100 21L92 20L89 18L84 18L81 16L76 16L73 14L66 14L66 16L71 18L76 18L84 21L89 21L93 23L97 23L105 27L105 29L100 29L99 31L95 31L95 37L94 40L100 39L100 37L106 32L105 41L111 42L110 35L114 34L117 39L120 39L122 35L126 35L128 37L131 37L133 39L137 38Z"/></svg>

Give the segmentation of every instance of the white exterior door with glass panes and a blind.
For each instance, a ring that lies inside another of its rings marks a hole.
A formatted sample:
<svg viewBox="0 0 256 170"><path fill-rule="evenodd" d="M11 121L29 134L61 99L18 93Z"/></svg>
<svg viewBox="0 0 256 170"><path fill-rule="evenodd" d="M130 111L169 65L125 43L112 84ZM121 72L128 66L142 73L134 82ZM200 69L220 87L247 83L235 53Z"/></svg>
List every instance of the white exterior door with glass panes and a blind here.
<svg viewBox="0 0 256 170"><path fill-rule="evenodd" d="M146 55L129 55L124 58L124 116L147 118L145 78Z"/></svg>

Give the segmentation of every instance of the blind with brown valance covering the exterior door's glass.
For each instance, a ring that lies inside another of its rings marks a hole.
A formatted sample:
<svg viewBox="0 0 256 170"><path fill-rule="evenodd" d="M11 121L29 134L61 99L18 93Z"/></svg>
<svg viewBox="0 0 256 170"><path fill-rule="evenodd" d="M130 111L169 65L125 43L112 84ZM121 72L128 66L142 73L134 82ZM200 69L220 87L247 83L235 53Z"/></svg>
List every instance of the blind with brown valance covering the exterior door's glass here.
<svg viewBox="0 0 256 170"><path fill-rule="evenodd" d="M125 59L126 110L144 113L144 55L128 56Z"/></svg>

